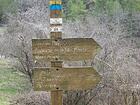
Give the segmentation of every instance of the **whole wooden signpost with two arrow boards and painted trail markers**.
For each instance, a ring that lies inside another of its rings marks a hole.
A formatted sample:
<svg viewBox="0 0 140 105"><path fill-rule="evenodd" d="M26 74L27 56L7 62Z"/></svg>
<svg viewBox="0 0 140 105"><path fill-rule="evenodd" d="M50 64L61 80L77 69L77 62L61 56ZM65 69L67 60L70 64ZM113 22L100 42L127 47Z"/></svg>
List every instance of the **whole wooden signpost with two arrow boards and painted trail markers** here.
<svg viewBox="0 0 140 105"><path fill-rule="evenodd" d="M63 61L88 60L101 47L92 38L62 39L62 1L50 1L51 39L33 39L33 61L51 62L51 67L34 67L35 91L51 91L51 104L62 105L63 90L87 90L96 86L100 75L92 67L63 67Z"/></svg>

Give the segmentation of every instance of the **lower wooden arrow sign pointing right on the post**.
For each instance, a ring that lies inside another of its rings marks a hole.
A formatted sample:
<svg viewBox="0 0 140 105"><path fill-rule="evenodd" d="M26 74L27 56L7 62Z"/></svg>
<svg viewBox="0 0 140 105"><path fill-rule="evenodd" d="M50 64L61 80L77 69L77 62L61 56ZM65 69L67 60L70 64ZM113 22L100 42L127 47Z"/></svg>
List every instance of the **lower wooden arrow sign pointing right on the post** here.
<svg viewBox="0 0 140 105"><path fill-rule="evenodd" d="M36 91L86 90L96 86L100 80L100 75L92 67L33 70L33 87Z"/></svg>

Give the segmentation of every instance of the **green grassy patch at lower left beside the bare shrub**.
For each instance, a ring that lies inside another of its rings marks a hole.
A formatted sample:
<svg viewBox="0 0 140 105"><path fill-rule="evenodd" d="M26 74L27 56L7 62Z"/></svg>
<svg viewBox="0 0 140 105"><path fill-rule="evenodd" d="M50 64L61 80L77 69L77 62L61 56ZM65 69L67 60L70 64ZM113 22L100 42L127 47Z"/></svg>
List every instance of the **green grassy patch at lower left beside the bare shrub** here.
<svg viewBox="0 0 140 105"><path fill-rule="evenodd" d="M13 69L9 60L0 59L0 105L9 105L10 97L30 89L27 76Z"/></svg>

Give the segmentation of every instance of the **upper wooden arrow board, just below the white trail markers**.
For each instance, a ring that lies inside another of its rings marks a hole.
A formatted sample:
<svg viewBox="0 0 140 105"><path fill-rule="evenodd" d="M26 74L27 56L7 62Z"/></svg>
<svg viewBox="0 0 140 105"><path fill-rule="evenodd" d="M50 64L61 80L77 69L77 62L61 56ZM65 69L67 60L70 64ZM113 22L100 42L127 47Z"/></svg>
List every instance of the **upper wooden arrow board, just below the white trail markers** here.
<svg viewBox="0 0 140 105"><path fill-rule="evenodd" d="M79 61L94 57L100 46L92 38L71 38L52 41L33 39L32 54L34 61L54 60Z"/></svg>

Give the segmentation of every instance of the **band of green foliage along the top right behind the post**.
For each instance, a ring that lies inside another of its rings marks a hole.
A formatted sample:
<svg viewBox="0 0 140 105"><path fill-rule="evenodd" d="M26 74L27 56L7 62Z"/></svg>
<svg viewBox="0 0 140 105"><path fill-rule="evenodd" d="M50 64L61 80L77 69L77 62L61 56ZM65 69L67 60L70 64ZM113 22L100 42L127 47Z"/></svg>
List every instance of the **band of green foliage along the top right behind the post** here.
<svg viewBox="0 0 140 105"><path fill-rule="evenodd" d="M68 18L79 19L88 13L113 15L119 11L140 11L138 0L64 0L64 14ZM87 8L88 3L93 3L92 11ZM95 5L94 5L95 4ZM94 7L94 8L93 8Z"/></svg>

